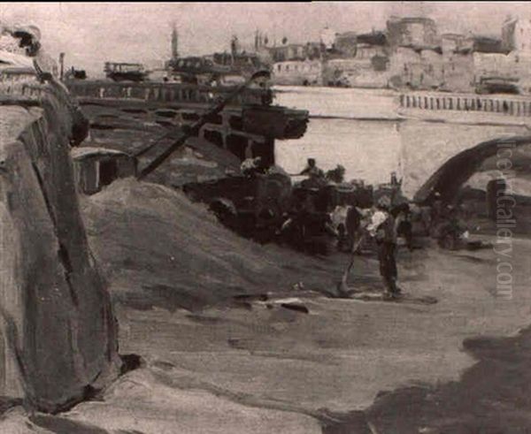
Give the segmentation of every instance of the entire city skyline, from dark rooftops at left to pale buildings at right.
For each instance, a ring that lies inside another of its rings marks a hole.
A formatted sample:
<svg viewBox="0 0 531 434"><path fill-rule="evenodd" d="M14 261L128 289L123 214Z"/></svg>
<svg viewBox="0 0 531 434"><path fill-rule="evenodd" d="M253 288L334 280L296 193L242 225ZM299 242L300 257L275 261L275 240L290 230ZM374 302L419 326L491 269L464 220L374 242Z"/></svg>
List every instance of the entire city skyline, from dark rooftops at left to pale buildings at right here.
<svg viewBox="0 0 531 434"><path fill-rule="evenodd" d="M489 32L496 29L489 29ZM272 84L337 88L389 88L455 93L528 95L531 92L531 20L505 19L498 35L442 33L434 19L395 17L369 33L325 27L319 41L290 42L256 30L252 40L233 34L229 48L182 56L173 26L171 56L162 68L106 62L115 80L179 81L227 85L269 70ZM249 39L249 38L248 38ZM61 70L64 54L59 57ZM84 71L65 78L86 79Z"/></svg>

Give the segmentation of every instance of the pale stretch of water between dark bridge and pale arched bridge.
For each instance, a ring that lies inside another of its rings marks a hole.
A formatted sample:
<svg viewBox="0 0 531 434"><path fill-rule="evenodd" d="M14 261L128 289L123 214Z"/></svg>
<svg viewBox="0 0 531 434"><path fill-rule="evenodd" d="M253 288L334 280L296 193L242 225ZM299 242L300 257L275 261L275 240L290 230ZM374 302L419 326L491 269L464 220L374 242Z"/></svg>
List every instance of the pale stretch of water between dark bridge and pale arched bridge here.
<svg viewBox="0 0 531 434"><path fill-rule="evenodd" d="M301 139L277 141L275 158L289 173L315 158L324 171L337 164L345 179L389 182L400 173L401 141L396 94L381 89L280 88L276 103L310 111Z"/></svg>

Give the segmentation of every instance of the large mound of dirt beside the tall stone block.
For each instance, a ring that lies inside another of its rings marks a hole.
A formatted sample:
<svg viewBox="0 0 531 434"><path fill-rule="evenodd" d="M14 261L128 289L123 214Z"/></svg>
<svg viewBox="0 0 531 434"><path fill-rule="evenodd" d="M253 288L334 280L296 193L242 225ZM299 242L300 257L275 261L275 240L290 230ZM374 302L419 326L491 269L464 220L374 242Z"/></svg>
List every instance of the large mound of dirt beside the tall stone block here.
<svg viewBox="0 0 531 434"><path fill-rule="evenodd" d="M135 308L201 308L237 294L335 286L342 262L228 231L205 209L168 187L122 179L84 198L98 262L120 301Z"/></svg>

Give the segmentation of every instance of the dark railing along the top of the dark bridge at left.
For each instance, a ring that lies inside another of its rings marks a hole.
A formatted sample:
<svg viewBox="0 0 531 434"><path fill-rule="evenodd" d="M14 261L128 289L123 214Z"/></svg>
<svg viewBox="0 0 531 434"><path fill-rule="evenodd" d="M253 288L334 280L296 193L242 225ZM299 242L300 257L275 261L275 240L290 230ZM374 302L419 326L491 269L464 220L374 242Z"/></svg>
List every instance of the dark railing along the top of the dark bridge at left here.
<svg viewBox="0 0 531 434"><path fill-rule="evenodd" d="M107 81L68 81L65 83L79 98L137 99L161 103L214 103L235 88L217 88L181 83L116 83ZM246 89L233 103L261 103L263 89Z"/></svg>

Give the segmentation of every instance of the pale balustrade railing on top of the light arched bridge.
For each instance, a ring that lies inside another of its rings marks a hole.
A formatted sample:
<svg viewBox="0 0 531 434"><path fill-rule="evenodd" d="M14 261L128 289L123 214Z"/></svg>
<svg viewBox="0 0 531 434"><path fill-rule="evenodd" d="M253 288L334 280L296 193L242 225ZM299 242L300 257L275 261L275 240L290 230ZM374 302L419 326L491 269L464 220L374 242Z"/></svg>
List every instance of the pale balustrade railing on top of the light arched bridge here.
<svg viewBox="0 0 531 434"><path fill-rule="evenodd" d="M422 110L461 110L531 116L531 98L483 95L400 95L400 107Z"/></svg>

